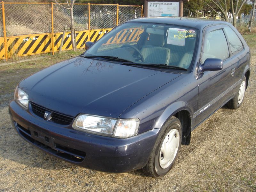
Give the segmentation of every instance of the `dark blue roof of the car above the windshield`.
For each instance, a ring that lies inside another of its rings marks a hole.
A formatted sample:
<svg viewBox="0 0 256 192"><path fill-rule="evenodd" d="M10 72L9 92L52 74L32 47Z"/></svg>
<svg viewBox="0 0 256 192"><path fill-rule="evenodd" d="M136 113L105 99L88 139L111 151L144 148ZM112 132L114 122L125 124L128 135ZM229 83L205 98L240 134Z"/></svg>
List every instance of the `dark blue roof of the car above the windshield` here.
<svg viewBox="0 0 256 192"><path fill-rule="evenodd" d="M230 25L226 21L210 20L202 18L188 18L188 17L143 17L138 19L129 20L127 22L146 22L146 23L158 23L158 24L172 24L181 25L191 28L203 29L209 25Z"/></svg>

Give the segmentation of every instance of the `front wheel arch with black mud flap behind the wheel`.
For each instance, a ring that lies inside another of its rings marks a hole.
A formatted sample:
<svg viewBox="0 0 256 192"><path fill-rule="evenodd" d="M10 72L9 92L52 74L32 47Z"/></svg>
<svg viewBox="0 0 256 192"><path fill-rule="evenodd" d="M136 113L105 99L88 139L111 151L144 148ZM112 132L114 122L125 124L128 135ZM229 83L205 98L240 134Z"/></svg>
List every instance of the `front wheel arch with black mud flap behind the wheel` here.
<svg viewBox="0 0 256 192"><path fill-rule="evenodd" d="M155 128L161 128L166 121L175 116L180 120L182 130L182 145L189 145L191 138L192 112L183 101L177 101L168 106L156 121Z"/></svg>

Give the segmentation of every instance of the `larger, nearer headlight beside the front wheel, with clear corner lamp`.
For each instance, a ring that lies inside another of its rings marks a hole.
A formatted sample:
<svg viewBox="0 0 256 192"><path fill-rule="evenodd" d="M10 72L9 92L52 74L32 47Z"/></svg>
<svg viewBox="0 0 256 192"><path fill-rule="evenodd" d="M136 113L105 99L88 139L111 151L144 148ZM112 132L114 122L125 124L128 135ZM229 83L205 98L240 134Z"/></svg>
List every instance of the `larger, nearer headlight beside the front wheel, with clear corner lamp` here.
<svg viewBox="0 0 256 192"><path fill-rule="evenodd" d="M138 133L139 125L139 119L117 120L109 117L80 114L76 117L73 128L110 137L127 138ZM115 134L113 134L114 132Z"/></svg>

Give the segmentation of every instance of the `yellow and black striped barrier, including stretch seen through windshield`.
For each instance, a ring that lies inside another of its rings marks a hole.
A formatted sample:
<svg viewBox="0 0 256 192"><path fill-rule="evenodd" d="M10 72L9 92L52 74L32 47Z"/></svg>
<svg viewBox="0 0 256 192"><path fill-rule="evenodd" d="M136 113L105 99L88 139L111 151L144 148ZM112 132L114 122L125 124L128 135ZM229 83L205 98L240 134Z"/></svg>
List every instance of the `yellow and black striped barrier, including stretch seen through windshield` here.
<svg viewBox="0 0 256 192"><path fill-rule="evenodd" d="M76 46L84 48L86 41L96 42L102 36L106 35L111 28L76 31ZM138 41L140 34L143 32L140 28L124 29L120 31L116 38L111 37L106 44L124 43ZM7 36L7 58L12 58L14 55L28 56L33 54L52 52L52 39L54 52L59 51L63 33L39 33L21 36ZM71 33L65 34L62 50L72 49ZM0 37L0 59L5 59L4 37Z"/></svg>

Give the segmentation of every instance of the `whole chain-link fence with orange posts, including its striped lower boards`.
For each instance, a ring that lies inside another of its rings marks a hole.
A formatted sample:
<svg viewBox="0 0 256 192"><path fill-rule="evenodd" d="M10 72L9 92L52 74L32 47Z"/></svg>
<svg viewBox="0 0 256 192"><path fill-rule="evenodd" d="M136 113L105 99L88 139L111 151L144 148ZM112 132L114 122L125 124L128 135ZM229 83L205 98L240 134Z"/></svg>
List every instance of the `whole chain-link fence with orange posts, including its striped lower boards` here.
<svg viewBox="0 0 256 192"><path fill-rule="evenodd" d="M63 50L72 49L70 31L65 36L62 33L65 26L71 25L67 4L2 1L1 5L0 59L54 54L60 46ZM96 42L116 25L141 15L142 6L74 4L76 45L83 48L86 41Z"/></svg>

